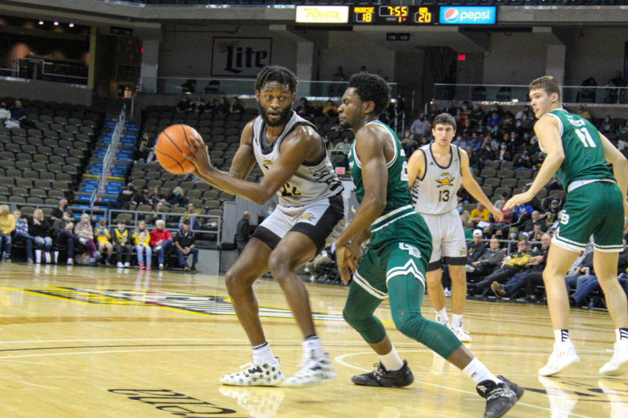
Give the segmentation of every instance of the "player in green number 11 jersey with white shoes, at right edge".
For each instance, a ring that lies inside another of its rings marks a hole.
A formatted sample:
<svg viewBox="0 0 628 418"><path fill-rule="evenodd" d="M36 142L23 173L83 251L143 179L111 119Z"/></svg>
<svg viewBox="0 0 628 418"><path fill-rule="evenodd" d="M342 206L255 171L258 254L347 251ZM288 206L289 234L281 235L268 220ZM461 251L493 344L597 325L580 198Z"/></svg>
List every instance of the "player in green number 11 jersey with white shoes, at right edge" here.
<svg viewBox="0 0 628 418"><path fill-rule="evenodd" d="M589 121L562 109L560 84L553 77L534 80L530 84L530 98L534 115L539 118L534 132L547 157L530 189L513 196L505 209L530 201L552 176L567 190L543 270L555 343L548 363L539 374L555 375L580 361L567 329L569 300L565 274L592 236L593 268L606 295L617 336L615 354L599 373L618 376L628 370L626 295L617 279L624 215L628 213L628 162ZM606 161L613 163L612 172Z"/></svg>

